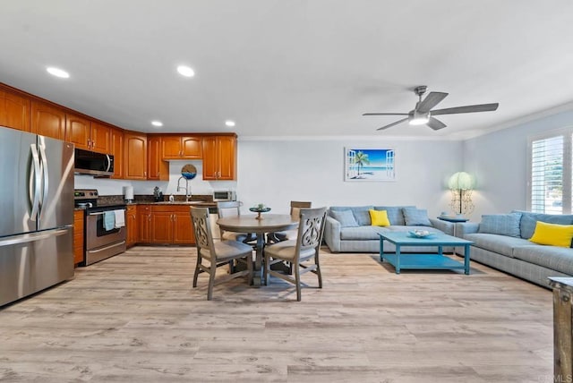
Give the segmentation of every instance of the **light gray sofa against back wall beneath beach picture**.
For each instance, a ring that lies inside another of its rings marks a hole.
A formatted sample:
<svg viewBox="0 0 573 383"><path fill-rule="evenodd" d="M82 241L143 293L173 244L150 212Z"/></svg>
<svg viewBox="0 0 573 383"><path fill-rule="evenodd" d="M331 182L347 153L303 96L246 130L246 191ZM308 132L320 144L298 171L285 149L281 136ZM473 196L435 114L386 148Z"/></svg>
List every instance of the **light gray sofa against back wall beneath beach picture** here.
<svg viewBox="0 0 573 383"><path fill-rule="evenodd" d="M386 210L390 226L372 226L370 209ZM426 210L415 206L332 206L326 218L324 241L332 252L379 252L379 233L415 229L452 235L454 224L428 218ZM394 251L393 244L384 243L384 252ZM407 247L405 251L436 252L437 248Z"/></svg>

